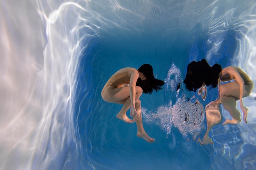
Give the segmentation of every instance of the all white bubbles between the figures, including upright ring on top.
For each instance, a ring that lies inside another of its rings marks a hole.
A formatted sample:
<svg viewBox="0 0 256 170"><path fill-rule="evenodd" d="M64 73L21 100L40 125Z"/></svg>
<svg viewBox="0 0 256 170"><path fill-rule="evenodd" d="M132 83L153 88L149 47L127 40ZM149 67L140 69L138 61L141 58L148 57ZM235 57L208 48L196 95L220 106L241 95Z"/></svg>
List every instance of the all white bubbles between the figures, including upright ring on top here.
<svg viewBox="0 0 256 170"><path fill-rule="evenodd" d="M193 97L189 100L185 95L179 95L180 82L180 70L173 63L166 78L166 96L169 96L167 104L159 106L155 111L142 108L143 118L147 123L160 126L167 135L174 126L182 135L190 135L195 139L202 128L204 108L198 99ZM176 96L176 101L170 99L172 96ZM174 105L172 101L175 101Z"/></svg>

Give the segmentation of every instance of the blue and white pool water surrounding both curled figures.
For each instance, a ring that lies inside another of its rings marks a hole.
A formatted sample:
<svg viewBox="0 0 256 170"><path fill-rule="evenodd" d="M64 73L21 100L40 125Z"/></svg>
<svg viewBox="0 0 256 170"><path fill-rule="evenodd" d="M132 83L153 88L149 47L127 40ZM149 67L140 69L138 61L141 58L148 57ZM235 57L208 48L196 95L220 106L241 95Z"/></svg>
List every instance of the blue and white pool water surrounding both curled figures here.
<svg viewBox="0 0 256 170"><path fill-rule="evenodd" d="M186 66L206 59L255 84L255 18L254 0L2 0L0 169L256 169L256 90L243 99L248 124L218 124L202 146L218 90L204 101L183 83ZM140 98L152 144L101 98L112 74L144 63L165 81Z"/></svg>

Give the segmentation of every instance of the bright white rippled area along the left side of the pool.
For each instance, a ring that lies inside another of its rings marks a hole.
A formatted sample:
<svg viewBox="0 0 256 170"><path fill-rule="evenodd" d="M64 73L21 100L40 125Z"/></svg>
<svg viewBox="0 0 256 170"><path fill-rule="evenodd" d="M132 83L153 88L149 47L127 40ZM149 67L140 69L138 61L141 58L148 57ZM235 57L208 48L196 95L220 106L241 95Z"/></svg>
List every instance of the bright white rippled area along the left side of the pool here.
<svg viewBox="0 0 256 170"><path fill-rule="evenodd" d="M79 16L69 10L85 9L65 2L51 11L55 4L43 3L1 1L2 169L61 169L81 148L72 98L83 47Z"/></svg>

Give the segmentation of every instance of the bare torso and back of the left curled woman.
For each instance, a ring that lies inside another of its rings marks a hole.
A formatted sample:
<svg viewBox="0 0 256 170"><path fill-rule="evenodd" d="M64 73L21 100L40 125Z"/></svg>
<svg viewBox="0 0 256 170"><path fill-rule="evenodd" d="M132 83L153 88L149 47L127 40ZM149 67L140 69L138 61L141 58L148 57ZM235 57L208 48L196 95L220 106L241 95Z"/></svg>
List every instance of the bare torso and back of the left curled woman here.
<svg viewBox="0 0 256 170"><path fill-rule="evenodd" d="M107 81L106 85L103 87L101 95L103 94L104 90L112 86L114 88L123 87L126 84L130 84L130 72L135 70L134 68L122 68L118 70L115 74L113 74L109 80Z"/></svg>

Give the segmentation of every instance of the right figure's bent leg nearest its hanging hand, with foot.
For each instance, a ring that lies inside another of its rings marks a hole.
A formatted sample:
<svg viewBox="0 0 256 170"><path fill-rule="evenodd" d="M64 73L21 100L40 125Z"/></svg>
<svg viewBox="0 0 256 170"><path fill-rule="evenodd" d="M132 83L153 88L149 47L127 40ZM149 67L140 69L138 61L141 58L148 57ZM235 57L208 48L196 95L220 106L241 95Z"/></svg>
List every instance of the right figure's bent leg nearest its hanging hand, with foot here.
<svg viewBox="0 0 256 170"><path fill-rule="evenodd" d="M225 120L223 125L228 123L238 124L239 122L241 122L240 112L238 111L238 109L236 109L236 98L232 96L221 96L220 100L223 107L229 112L229 114L233 118L232 120L229 120L229 119Z"/></svg>

